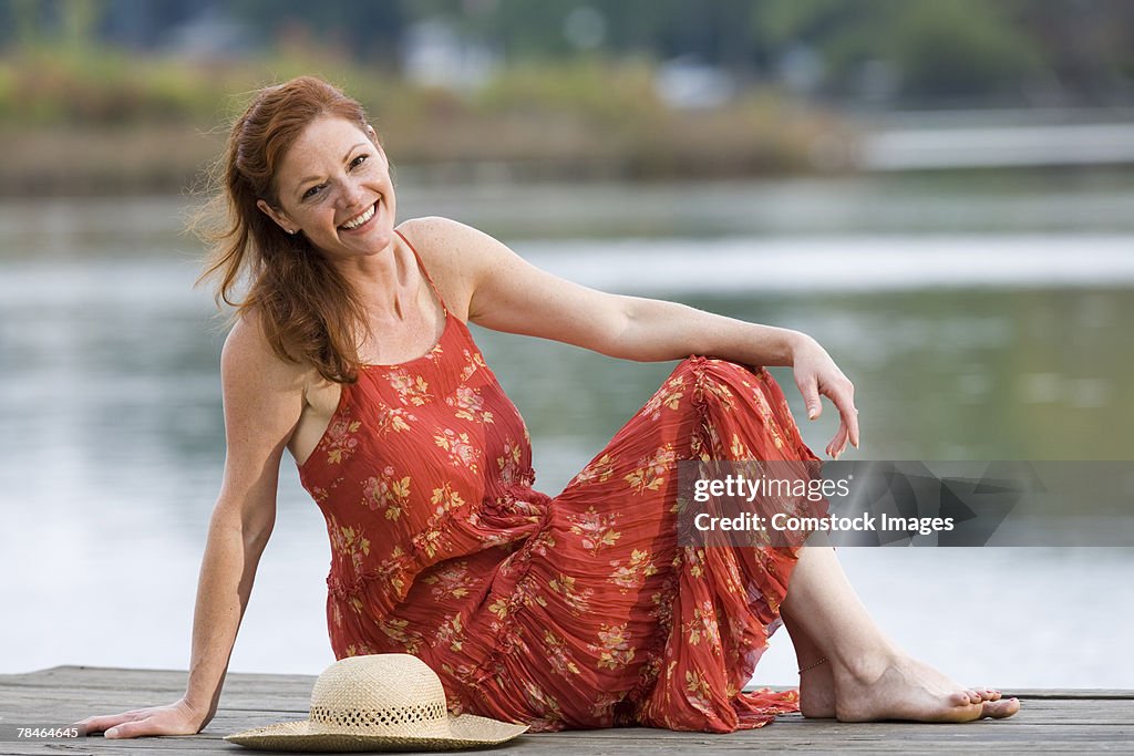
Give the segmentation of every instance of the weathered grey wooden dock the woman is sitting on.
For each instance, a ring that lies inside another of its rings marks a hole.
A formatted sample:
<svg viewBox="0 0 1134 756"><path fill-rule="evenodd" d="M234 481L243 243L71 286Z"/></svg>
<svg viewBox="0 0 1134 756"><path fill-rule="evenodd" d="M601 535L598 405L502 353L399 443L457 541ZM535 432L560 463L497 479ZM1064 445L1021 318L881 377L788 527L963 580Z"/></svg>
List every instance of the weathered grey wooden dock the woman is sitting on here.
<svg viewBox="0 0 1134 756"><path fill-rule="evenodd" d="M175 700L184 671L57 666L0 676L0 754L240 754L222 740L252 727L305 719L313 677L230 674L220 711L201 734L181 738L34 741L18 727L65 727L92 714ZM626 728L523 736L493 749L509 756L679 753L683 756L812 753L1092 753L1134 751L1134 690L1013 690L1021 712L967 724L841 724L781 716L760 730L705 734ZM489 751L481 751L489 753Z"/></svg>

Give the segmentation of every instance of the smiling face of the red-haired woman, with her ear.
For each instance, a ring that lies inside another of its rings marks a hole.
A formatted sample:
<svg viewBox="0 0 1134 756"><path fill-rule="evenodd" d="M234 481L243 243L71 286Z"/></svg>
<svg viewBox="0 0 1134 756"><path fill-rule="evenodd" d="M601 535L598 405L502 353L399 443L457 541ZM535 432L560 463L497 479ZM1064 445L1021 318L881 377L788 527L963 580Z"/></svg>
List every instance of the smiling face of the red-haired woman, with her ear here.
<svg viewBox="0 0 1134 756"><path fill-rule="evenodd" d="M331 258L372 255L393 240L389 163L366 129L336 117L312 121L276 172L279 206L256 203Z"/></svg>

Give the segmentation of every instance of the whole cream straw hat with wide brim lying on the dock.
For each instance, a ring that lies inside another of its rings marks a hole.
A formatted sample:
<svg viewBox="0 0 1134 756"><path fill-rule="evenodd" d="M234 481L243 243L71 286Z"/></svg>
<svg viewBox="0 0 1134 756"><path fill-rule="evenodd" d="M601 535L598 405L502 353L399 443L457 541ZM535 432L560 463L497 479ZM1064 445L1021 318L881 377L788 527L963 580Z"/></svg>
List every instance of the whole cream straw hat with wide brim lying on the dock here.
<svg viewBox="0 0 1134 756"><path fill-rule="evenodd" d="M262 750L441 750L496 746L527 730L483 716L454 716L425 662L408 654L341 659L319 676L311 716L237 732L229 742Z"/></svg>

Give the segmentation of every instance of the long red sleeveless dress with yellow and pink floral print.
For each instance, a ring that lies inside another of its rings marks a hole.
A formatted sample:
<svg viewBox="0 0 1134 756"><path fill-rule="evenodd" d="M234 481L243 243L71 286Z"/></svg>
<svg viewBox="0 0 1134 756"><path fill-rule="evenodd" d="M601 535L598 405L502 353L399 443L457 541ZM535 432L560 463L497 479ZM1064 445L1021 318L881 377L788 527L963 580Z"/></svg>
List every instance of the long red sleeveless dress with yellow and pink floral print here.
<svg viewBox="0 0 1134 756"><path fill-rule="evenodd" d="M299 468L331 540L335 655L413 654L454 711L535 731L728 732L796 711L794 690L742 691L795 550L676 534L678 460L815 459L767 371L682 362L551 498L516 407L445 316L429 354L342 385Z"/></svg>

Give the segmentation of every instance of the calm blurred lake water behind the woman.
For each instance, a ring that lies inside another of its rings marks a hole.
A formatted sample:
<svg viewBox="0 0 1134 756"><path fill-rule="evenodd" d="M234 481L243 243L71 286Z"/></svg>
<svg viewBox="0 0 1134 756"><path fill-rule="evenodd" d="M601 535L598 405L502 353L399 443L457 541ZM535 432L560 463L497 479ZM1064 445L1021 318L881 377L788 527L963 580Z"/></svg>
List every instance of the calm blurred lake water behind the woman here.
<svg viewBox="0 0 1134 756"><path fill-rule="evenodd" d="M956 180L406 189L401 205L473 222L584 283L815 335L856 383L860 458L1134 459L1134 180ZM0 672L188 664L223 461L223 331L191 289L185 206L0 209ZM476 338L552 493L671 369ZM801 416L790 374L777 375ZM828 407L804 438L821 449L835 427ZM1132 549L841 557L882 627L959 679L1134 687L1112 629L1134 606ZM234 671L332 661L328 561L286 460ZM793 682L793 661L777 636L758 681Z"/></svg>

